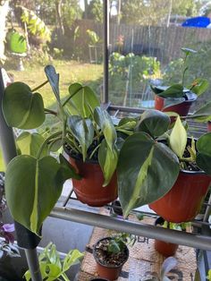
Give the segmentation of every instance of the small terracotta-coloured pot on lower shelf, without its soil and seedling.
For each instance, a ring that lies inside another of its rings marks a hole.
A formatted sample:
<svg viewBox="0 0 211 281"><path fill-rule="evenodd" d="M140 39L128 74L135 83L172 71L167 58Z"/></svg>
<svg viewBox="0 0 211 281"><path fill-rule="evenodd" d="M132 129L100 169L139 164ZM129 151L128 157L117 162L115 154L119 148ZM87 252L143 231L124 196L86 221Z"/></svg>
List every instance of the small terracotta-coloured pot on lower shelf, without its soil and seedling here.
<svg viewBox="0 0 211 281"><path fill-rule="evenodd" d="M112 239L111 237L105 237L103 239L100 239L97 243L99 243L102 240L106 240L106 239ZM126 251L126 258L125 260L122 262L122 264L118 267L114 267L114 266L105 266L104 264L101 264L100 261L97 259L97 255L96 255L96 246L97 243L94 245L94 249L93 249L93 256L97 262L97 274L99 277L108 279L110 281L112 280L116 280L119 276L120 273L122 271L122 266L124 265L124 263L128 260L129 258L129 250L128 247L126 246L125 251Z"/></svg>

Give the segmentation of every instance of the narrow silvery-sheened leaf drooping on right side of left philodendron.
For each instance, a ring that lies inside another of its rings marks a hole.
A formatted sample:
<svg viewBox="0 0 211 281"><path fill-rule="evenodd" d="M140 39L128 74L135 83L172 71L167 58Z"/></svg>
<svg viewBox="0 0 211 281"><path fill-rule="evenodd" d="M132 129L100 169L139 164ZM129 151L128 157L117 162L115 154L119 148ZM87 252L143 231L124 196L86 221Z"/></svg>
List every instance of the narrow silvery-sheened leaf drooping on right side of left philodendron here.
<svg viewBox="0 0 211 281"><path fill-rule="evenodd" d="M106 110L97 106L94 111L94 119L105 136L108 148L112 151L114 149L117 136L111 116Z"/></svg>

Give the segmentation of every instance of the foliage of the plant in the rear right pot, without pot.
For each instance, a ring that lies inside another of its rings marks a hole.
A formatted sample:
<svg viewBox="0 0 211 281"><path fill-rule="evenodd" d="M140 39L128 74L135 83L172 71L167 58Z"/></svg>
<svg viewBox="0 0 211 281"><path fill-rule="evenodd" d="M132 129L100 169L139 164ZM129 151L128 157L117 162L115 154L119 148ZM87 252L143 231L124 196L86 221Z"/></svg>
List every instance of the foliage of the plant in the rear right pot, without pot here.
<svg viewBox="0 0 211 281"><path fill-rule="evenodd" d="M189 70L187 59L191 54L196 54L197 51L186 47L182 47L181 51L185 54L181 81L171 86L151 85L151 89L158 97L165 98L165 107L181 104L187 99L196 99L208 89L208 81L204 78L196 78L190 85L185 86L185 74Z"/></svg>

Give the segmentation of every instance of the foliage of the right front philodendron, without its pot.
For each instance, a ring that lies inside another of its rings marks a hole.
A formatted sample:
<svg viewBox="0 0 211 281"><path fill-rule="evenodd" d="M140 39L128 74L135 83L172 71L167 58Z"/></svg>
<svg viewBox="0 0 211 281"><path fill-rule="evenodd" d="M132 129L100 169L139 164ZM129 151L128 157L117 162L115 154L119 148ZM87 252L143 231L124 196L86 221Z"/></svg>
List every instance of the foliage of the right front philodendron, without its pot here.
<svg viewBox="0 0 211 281"><path fill-rule="evenodd" d="M117 166L124 217L131 209L169 192L181 169L201 169L211 175L211 133L188 143L180 116L173 129L169 128L168 115L147 110L141 115L136 132L124 141Z"/></svg>

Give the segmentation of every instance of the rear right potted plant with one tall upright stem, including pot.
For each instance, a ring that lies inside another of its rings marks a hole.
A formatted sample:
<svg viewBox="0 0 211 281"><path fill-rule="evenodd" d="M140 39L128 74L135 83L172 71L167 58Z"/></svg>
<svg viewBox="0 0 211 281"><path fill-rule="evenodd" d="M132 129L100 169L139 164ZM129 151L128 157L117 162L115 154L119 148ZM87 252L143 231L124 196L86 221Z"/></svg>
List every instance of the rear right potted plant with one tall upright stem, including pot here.
<svg viewBox="0 0 211 281"><path fill-rule="evenodd" d="M183 70L181 75L181 83L171 86L153 86L151 89L156 94L155 108L164 112L176 112L181 116L186 116L189 113L191 104L204 93L208 88L208 82L205 79L195 79L190 86L185 87L185 73L188 71L187 59L190 54L195 54L197 51L190 48L181 48L185 53L183 60Z"/></svg>

